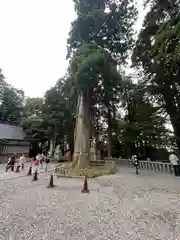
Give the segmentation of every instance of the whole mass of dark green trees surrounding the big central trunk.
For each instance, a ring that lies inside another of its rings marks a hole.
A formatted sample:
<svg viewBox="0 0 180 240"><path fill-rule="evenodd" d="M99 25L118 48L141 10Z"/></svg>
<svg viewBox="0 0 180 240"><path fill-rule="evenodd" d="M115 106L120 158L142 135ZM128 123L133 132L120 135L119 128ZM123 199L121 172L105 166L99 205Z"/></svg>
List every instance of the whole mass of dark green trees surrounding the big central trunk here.
<svg viewBox="0 0 180 240"><path fill-rule="evenodd" d="M66 75L43 98L24 98L0 72L0 119L23 126L33 144L73 149L78 94L91 106L91 133L109 156L167 159L180 150L180 3L152 0L135 39L134 1L73 0ZM136 78L122 69L129 56ZM167 128L171 124L173 131ZM47 144L48 145L48 144Z"/></svg>

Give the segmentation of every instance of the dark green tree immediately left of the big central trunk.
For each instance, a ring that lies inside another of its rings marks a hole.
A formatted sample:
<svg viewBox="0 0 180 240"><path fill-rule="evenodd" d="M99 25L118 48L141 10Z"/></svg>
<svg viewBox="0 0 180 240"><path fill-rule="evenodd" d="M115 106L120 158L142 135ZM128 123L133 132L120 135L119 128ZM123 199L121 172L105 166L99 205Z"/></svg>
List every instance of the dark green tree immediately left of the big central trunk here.
<svg viewBox="0 0 180 240"><path fill-rule="evenodd" d="M51 129L51 139L56 144L63 145L68 142L72 145L74 127L73 109L68 104L64 86L61 82L49 89L44 98L44 120Z"/></svg>

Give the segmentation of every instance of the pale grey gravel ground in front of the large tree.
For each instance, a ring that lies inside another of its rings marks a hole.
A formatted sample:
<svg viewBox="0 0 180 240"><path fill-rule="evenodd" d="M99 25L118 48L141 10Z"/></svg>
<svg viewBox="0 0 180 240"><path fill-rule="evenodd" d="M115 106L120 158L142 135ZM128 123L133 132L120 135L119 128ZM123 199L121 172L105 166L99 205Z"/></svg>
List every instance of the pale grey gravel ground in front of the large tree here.
<svg viewBox="0 0 180 240"><path fill-rule="evenodd" d="M123 168L88 180L39 180L0 170L1 240L178 240L180 178Z"/></svg>

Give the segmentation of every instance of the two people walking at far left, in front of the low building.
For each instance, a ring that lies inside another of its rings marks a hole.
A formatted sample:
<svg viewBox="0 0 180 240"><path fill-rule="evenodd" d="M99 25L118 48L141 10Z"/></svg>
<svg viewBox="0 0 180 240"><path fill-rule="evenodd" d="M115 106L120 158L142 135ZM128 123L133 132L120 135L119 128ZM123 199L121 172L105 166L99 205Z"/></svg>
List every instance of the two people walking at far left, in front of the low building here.
<svg viewBox="0 0 180 240"><path fill-rule="evenodd" d="M8 159L7 165L6 165L6 172L11 169L12 172L14 172L14 167L15 164L17 164L18 168L22 168L22 170L24 170L24 163L25 163L26 157L24 155L24 153L22 153L20 155L20 157L18 157L17 153L13 153L11 155L11 157Z"/></svg>

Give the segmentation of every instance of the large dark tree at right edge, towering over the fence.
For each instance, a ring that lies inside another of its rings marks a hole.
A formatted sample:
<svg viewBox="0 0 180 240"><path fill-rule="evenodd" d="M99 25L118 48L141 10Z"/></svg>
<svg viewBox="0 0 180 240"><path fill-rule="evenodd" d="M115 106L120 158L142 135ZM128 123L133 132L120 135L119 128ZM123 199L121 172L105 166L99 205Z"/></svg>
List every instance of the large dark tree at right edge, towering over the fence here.
<svg viewBox="0 0 180 240"><path fill-rule="evenodd" d="M180 3L151 1L134 51L133 61L142 66L144 84L169 114L180 150Z"/></svg>

